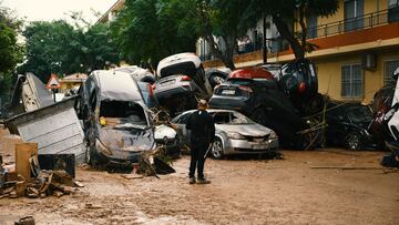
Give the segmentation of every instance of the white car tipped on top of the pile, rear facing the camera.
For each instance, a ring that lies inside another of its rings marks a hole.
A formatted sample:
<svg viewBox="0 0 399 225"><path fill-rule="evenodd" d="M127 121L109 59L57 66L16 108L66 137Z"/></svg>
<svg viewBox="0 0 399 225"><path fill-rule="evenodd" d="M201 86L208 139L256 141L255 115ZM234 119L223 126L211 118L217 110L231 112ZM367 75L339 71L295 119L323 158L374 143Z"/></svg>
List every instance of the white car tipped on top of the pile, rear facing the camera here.
<svg viewBox="0 0 399 225"><path fill-rule="evenodd" d="M160 61L154 93L172 115L195 109L196 99L209 99L212 86L202 62L194 53L180 53Z"/></svg>

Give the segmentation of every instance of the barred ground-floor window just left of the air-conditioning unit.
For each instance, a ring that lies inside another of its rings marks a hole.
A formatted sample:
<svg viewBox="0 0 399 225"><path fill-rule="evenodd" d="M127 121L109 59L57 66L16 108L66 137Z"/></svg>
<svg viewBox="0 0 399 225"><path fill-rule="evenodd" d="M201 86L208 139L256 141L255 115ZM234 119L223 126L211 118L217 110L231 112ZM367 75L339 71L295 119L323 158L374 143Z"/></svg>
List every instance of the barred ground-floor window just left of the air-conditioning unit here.
<svg viewBox="0 0 399 225"><path fill-rule="evenodd" d="M344 65L341 68L341 96L364 96L364 74L360 64Z"/></svg>

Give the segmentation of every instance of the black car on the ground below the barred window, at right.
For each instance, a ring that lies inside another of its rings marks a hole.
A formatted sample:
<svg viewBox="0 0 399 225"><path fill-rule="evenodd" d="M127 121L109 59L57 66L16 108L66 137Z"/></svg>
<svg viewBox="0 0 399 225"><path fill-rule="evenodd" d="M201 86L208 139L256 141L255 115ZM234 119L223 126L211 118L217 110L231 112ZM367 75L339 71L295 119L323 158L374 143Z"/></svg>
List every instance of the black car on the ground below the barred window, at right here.
<svg viewBox="0 0 399 225"><path fill-rule="evenodd" d="M369 133L372 111L356 102L330 102L326 110L327 144L348 150L380 147L379 141Z"/></svg>

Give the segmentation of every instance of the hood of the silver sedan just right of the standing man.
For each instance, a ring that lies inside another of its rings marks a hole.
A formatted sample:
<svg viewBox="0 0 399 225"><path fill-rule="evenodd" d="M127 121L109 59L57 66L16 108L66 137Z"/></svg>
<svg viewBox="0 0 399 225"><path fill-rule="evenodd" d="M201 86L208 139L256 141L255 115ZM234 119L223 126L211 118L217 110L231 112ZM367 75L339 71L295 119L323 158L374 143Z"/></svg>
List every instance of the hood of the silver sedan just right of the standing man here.
<svg viewBox="0 0 399 225"><path fill-rule="evenodd" d="M216 131L235 132L244 136L265 136L270 134L272 130L260 124L215 124Z"/></svg>

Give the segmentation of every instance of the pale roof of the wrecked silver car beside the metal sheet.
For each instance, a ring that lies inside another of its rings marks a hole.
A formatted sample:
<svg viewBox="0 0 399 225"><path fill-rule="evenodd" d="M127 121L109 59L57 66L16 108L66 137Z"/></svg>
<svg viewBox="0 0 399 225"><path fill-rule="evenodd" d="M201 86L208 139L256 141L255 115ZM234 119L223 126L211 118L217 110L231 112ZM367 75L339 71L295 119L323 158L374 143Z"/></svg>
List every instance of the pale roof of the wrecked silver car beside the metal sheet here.
<svg viewBox="0 0 399 225"><path fill-rule="evenodd" d="M101 100L143 101L143 96L132 74L119 71L96 70L93 71L90 76L94 76L99 85Z"/></svg>

